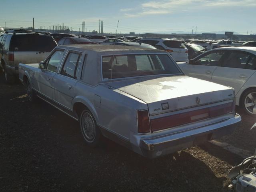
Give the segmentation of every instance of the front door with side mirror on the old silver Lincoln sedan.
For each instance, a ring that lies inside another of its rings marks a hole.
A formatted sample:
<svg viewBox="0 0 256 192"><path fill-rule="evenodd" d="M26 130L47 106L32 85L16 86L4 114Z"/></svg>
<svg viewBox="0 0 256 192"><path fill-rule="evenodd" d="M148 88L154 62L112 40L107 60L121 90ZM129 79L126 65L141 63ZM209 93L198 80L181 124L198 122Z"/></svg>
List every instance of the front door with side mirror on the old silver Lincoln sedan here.
<svg viewBox="0 0 256 192"><path fill-rule="evenodd" d="M38 91L52 100L52 79L62 61L64 50L55 50L44 62L45 69L38 74Z"/></svg>

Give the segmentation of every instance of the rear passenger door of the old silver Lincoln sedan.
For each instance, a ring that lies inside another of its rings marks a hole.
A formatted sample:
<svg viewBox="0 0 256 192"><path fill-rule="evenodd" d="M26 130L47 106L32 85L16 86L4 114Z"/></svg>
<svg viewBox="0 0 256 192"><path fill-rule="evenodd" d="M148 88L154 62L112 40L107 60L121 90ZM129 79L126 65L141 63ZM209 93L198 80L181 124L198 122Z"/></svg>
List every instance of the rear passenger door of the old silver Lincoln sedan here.
<svg viewBox="0 0 256 192"><path fill-rule="evenodd" d="M75 96L76 79L82 53L68 52L59 73L53 77L53 100L58 104L70 109Z"/></svg>

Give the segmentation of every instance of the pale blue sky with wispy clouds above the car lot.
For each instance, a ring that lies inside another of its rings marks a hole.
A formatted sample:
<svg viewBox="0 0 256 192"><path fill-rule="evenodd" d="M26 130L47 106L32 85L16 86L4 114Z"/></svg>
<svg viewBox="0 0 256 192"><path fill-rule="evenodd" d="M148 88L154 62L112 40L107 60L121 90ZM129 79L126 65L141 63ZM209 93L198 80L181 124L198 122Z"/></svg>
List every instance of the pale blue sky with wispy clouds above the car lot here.
<svg viewBox="0 0 256 192"><path fill-rule="evenodd" d="M256 33L256 0L1 0L0 26L35 27L64 23L78 30L82 21L89 31Z"/></svg>

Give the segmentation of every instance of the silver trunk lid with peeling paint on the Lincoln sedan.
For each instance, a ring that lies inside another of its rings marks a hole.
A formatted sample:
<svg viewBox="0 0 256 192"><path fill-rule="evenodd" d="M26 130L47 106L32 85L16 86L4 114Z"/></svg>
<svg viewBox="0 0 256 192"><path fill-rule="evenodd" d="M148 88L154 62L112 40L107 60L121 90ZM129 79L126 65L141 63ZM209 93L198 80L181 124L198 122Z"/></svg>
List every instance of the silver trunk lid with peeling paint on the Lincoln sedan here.
<svg viewBox="0 0 256 192"><path fill-rule="evenodd" d="M234 98L232 88L188 76L124 80L111 86L146 102L150 115Z"/></svg>

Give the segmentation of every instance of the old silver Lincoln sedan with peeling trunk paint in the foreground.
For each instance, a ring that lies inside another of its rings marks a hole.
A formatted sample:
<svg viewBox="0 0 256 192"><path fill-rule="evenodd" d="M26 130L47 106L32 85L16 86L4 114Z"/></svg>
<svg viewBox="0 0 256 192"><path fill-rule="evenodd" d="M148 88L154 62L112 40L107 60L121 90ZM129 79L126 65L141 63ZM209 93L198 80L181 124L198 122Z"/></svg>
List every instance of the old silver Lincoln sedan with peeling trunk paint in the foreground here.
<svg viewBox="0 0 256 192"><path fill-rule="evenodd" d="M19 64L36 96L80 123L84 141L101 135L154 158L230 134L241 118L234 90L184 76L165 51L132 46L57 46L40 64Z"/></svg>

